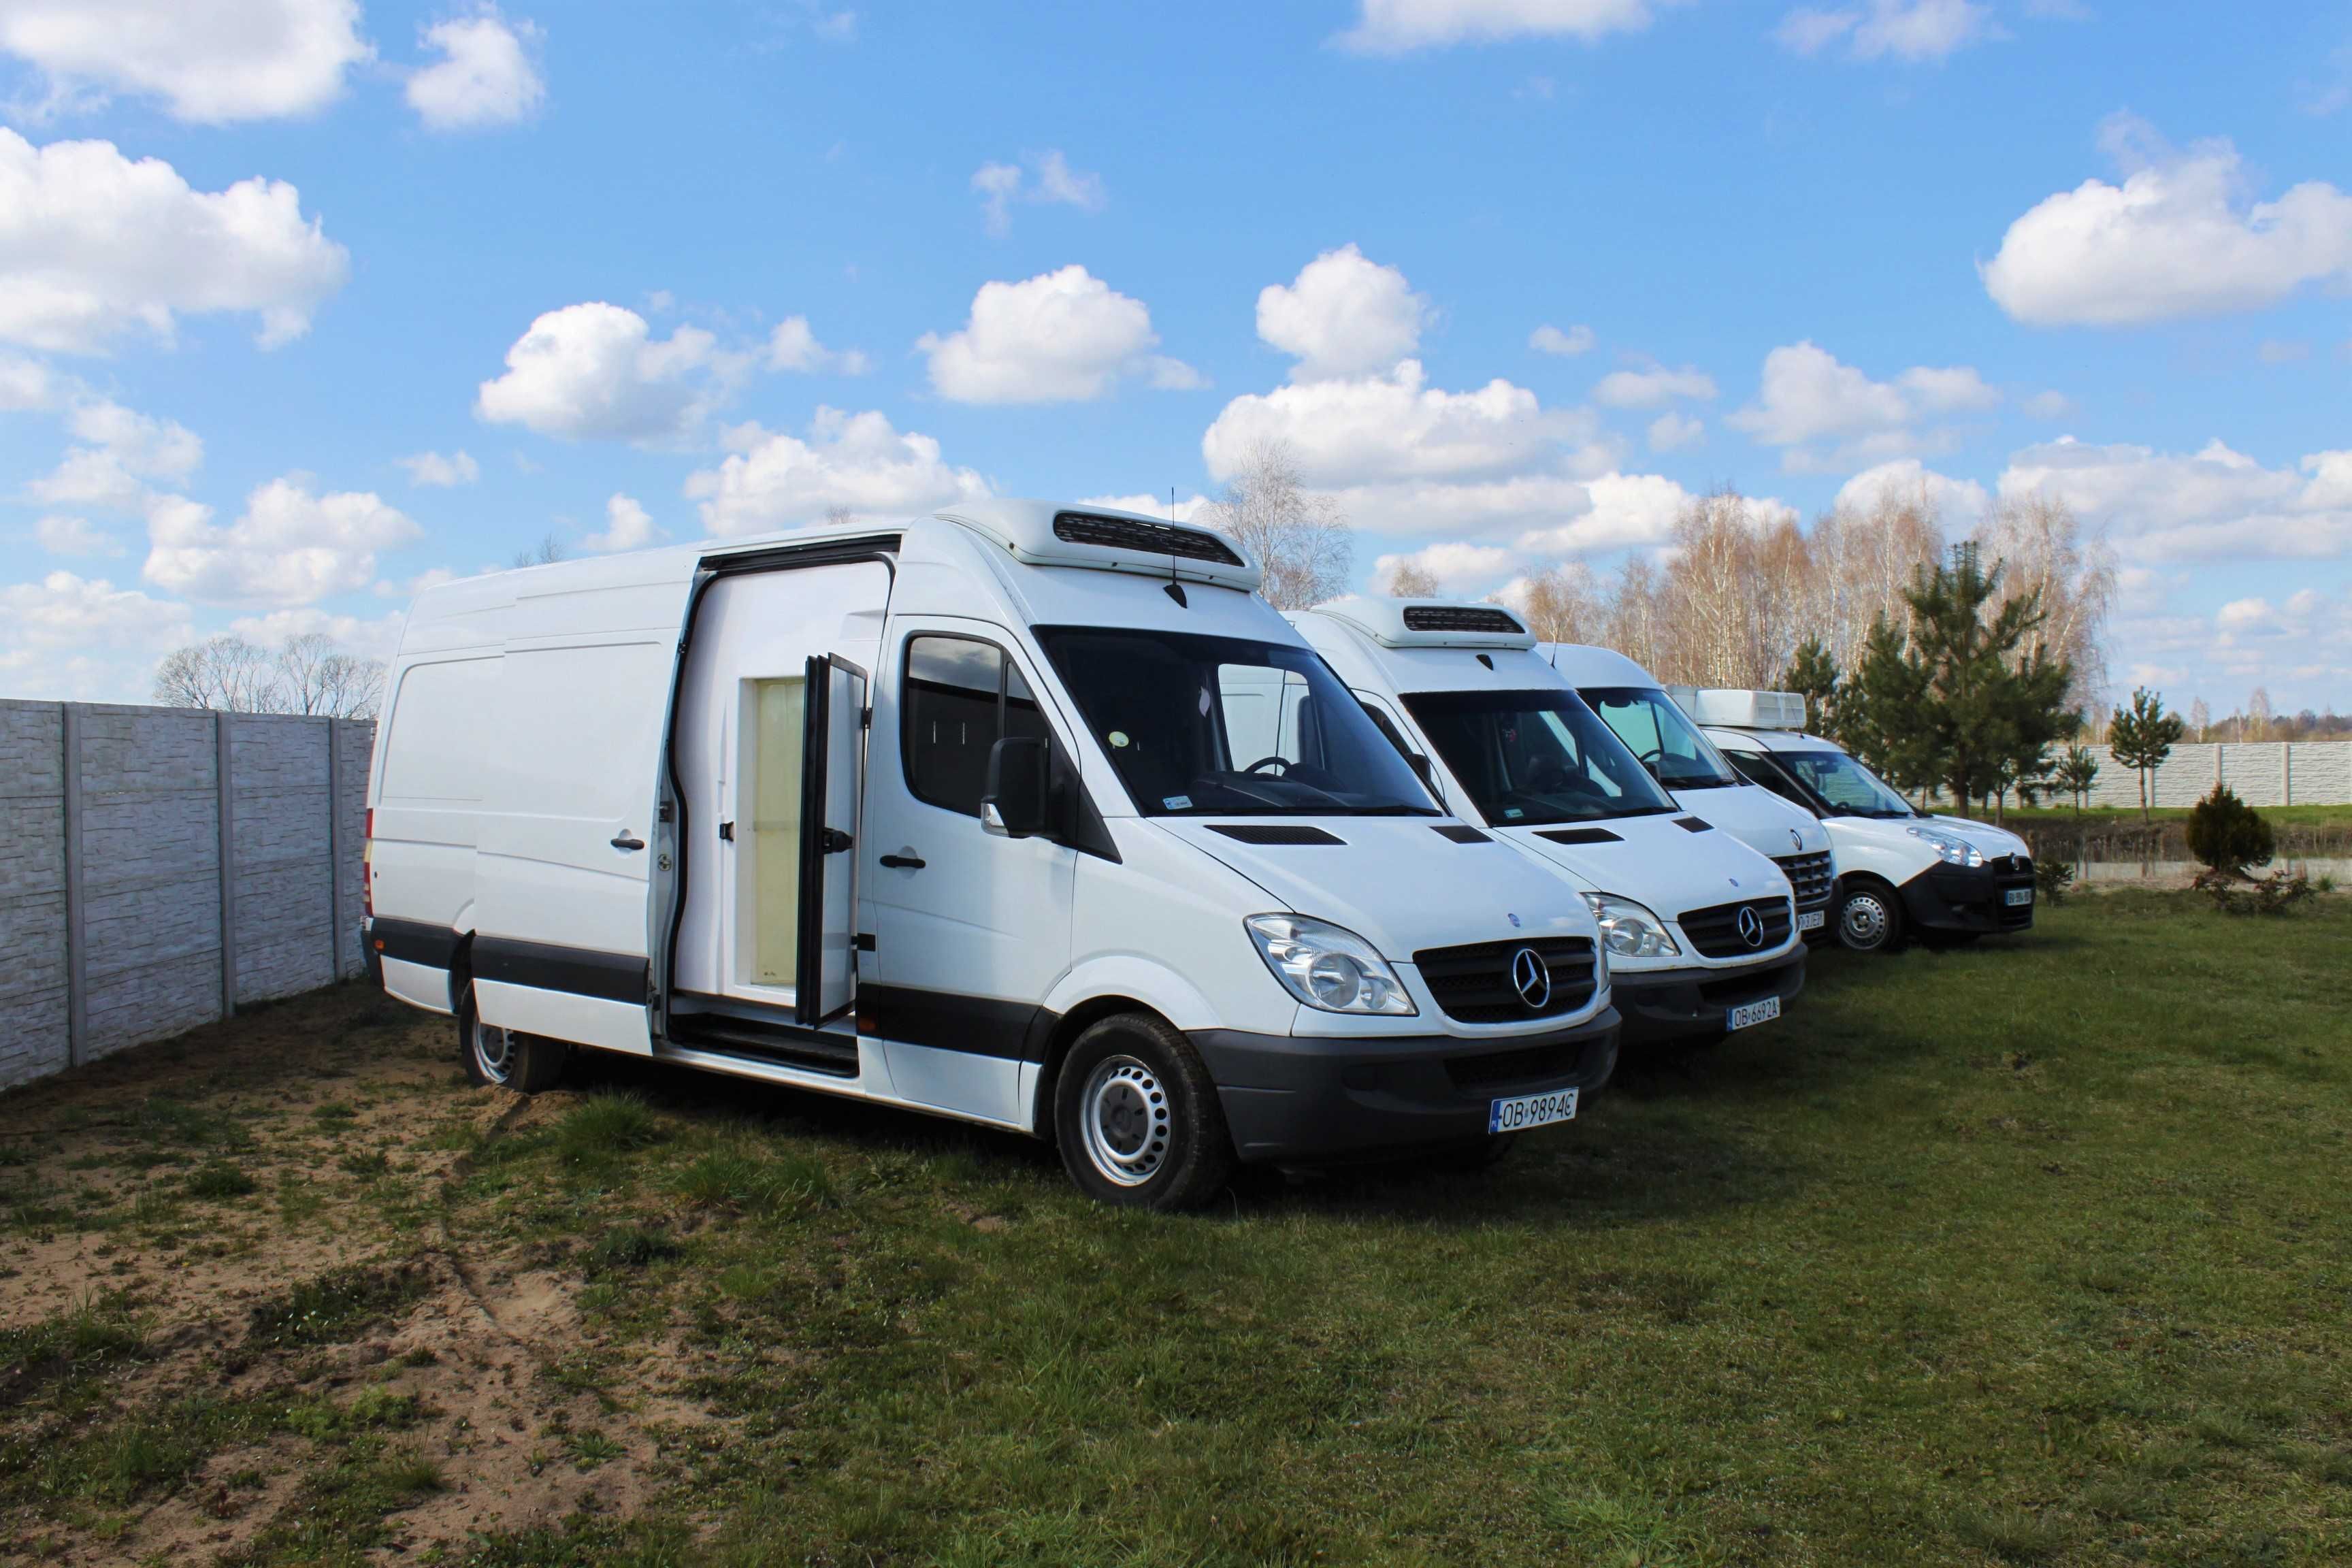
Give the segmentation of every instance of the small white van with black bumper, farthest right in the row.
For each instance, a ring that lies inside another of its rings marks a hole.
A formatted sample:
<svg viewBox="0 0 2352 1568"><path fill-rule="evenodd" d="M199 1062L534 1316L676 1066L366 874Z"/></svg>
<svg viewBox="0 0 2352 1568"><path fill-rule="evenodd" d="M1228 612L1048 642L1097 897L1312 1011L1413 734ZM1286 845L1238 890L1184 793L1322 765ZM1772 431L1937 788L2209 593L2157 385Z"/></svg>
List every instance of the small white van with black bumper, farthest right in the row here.
<svg viewBox="0 0 2352 1568"><path fill-rule="evenodd" d="M1804 806L1837 844L1837 940L1891 952L1907 931L1973 940L2034 924L2025 839L1912 809L1835 743L1804 733L1795 691L1677 689L1675 698L1748 778Z"/></svg>

